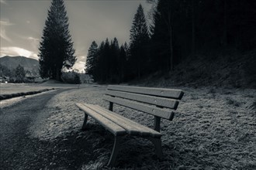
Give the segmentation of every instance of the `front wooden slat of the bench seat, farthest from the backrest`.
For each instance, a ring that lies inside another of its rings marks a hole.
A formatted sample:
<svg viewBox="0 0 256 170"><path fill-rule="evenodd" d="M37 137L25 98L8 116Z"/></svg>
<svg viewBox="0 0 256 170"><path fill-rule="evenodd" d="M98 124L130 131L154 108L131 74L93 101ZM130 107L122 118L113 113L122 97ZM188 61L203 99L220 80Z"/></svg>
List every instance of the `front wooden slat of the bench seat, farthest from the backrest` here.
<svg viewBox="0 0 256 170"><path fill-rule="evenodd" d="M78 103L76 105L81 110L85 111L85 113L88 114L90 117L95 119L95 121L98 121L99 124L102 124L104 128L108 129L115 136L126 134L126 130L124 128L120 127L118 124L113 123L112 121L109 121L109 119L98 114L97 112L95 112L95 110L85 107L84 104Z"/></svg>

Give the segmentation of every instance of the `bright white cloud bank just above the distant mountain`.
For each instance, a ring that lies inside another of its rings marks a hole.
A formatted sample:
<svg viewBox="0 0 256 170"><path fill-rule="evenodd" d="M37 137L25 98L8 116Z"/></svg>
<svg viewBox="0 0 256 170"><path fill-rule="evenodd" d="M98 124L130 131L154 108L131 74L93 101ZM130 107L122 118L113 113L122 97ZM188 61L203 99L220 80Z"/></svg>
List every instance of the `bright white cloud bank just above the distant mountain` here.
<svg viewBox="0 0 256 170"><path fill-rule="evenodd" d="M16 46L9 46L9 47L1 47L0 51L1 56L26 56L31 59L38 59L36 53L29 51L27 49L22 49Z"/></svg>

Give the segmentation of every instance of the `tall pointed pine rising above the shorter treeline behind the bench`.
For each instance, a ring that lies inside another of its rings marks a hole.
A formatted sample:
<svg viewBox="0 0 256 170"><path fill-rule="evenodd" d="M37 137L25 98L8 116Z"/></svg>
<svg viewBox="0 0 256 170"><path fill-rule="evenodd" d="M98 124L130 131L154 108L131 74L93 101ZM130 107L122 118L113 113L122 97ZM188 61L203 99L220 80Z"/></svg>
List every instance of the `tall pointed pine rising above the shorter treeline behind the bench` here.
<svg viewBox="0 0 256 170"><path fill-rule="evenodd" d="M144 9L142 5L139 5L137 13L134 15L133 26L130 29L130 62L133 66L135 76L138 78L144 72L148 61L148 42L149 33Z"/></svg>

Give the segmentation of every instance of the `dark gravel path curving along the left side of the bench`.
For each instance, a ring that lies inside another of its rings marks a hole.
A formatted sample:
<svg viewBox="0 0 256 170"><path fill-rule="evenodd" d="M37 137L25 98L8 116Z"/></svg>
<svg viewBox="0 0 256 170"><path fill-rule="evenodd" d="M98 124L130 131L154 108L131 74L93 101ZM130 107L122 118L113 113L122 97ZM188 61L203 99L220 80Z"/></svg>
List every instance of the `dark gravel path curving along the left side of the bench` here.
<svg viewBox="0 0 256 170"><path fill-rule="evenodd" d="M84 157L79 158L79 154L73 158L72 151L82 148L80 144L74 144L75 137L55 141L40 141L29 137L31 124L49 116L49 113L42 112L47 102L64 91L42 93L11 107L1 108L0 169L77 169L81 165L81 158L86 161Z"/></svg>

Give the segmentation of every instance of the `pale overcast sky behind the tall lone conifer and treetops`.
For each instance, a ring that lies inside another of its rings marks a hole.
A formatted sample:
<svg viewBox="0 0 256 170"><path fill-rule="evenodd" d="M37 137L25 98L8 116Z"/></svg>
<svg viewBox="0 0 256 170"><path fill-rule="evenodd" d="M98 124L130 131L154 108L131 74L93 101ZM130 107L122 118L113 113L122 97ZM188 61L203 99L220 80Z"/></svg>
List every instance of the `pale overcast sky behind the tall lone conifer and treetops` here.
<svg viewBox="0 0 256 170"><path fill-rule="evenodd" d="M26 56L38 59L38 46L50 0L0 0L0 56ZM139 4L145 15L146 0L65 0L69 29L78 57L74 68L84 70L88 48L106 38L129 42L130 27Z"/></svg>

